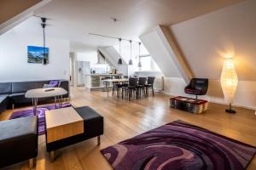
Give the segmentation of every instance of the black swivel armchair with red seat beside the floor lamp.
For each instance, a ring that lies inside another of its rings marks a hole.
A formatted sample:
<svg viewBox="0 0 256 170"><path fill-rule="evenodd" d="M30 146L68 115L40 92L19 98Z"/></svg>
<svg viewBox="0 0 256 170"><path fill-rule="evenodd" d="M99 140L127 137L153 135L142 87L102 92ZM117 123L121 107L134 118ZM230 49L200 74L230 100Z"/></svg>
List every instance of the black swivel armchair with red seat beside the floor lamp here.
<svg viewBox="0 0 256 170"><path fill-rule="evenodd" d="M205 95L208 90L208 79L207 78L192 78L189 85L184 89L186 94Z"/></svg>

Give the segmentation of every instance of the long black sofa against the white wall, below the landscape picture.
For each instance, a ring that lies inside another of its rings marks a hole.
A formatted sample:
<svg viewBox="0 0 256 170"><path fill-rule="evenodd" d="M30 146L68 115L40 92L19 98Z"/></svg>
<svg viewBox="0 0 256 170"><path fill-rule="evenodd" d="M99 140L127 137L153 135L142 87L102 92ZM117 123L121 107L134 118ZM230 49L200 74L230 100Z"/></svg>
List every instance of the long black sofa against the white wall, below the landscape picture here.
<svg viewBox="0 0 256 170"><path fill-rule="evenodd" d="M44 84L49 84L47 81L27 81L27 82L0 82L0 113L7 108L15 105L30 104L32 99L26 99L27 90L33 88L43 88ZM67 90L67 94L63 98L69 97L69 87L67 80L61 80L60 88ZM46 101L54 98L38 99L38 101Z"/></svg>

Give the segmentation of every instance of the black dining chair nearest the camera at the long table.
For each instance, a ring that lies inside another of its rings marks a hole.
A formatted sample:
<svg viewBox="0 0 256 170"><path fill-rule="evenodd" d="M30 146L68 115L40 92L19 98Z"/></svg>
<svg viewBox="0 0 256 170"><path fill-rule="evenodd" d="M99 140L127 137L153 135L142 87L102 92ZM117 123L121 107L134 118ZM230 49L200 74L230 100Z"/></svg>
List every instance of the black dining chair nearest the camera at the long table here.
<svg viewBox="0 0 256 170"><path fill-rule="evenodd" d="M132 94L136 93L137 98L137 77L130 77L129 78L129 84L122 88L122 99L124 98L124 93L126 96L128 95L128 99L131 100Z"/></svg>

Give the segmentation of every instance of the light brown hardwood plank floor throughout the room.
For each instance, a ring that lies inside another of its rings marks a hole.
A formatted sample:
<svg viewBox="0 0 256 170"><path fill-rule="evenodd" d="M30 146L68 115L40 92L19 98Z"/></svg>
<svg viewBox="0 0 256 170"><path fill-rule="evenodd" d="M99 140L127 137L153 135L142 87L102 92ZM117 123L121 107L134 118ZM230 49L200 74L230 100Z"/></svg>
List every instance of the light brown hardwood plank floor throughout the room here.
<svg viewBox="0 0 256 170"><path fill-rule="evenodd" d="M193 115L170 109L169 98L170 96L164 94L156 94L147 99L127 101L107 98L107 94L103 92L87 92L84 88L71 88L71 103L75 107L89 105L104 116L102 144L97 146L96 138L74 144L56 151L56 160L50 163L49 153L45 150L45 136L41 135L38 141L36 169L112 169L99 150L178 119L247 144L256 145L254 111L236 108L236 115L230 115L224 112L226 106L210 104L208 111L204 114ZM12 112L13 110L5 111L0 115L0 120L9 119ZM28 166L26 161L23 161L4 169L25 170L28 169ZM256 169L255 157L247 169Z"/></svg>

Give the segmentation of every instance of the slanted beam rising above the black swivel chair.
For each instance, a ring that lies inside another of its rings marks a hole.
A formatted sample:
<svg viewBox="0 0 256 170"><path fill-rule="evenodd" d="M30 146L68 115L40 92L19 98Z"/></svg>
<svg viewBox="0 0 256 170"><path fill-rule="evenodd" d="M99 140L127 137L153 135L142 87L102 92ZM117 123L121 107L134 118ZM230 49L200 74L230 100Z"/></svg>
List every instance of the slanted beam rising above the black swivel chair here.
<svg viewBox="0 0 256 170"><path fill-rule="evenodd" d="M176 65L177 70L180 72L184 81L188 83L193 77L193 73L190 70L188 63L184 59L177 42L172 36L170 28L168 26L157 26L155 27L155 31L157 31L161 41L165 45L168 54L170 57L172 57L172 61Z"/></svg>

